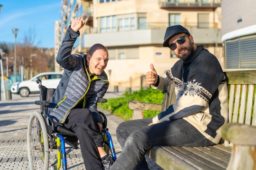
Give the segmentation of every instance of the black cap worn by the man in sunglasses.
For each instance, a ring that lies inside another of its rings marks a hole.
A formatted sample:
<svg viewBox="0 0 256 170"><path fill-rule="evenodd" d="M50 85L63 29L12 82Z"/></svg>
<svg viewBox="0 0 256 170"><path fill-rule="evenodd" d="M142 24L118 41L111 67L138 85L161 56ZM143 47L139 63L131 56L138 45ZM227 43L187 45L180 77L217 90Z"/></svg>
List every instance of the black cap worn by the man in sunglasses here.
<svg viewBox="0 0 256 170"><path fill-rule="evenodd" d="M164 35L163 46L169 46L168 43L171 40L171 38L173 38L175 35L180 34L180 33L187 33L188 35L190 35L189 31L181 25L169 26L166 29L166 32Z"/></svg>

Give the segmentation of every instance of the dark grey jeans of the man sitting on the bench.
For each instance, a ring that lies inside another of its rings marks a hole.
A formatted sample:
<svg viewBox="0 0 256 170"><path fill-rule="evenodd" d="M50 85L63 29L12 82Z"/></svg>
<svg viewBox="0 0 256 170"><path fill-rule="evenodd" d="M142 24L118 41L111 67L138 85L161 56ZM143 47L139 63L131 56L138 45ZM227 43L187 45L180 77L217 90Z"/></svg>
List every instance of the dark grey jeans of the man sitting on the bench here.
<svg viewBox="0 0 256 170"><path fill-rule="evenodd" d="M212 146L194 126L184 119L148 126L152 118L125 121L117 127L121 155L110 170L148 170L144 155L153 146Z"/></svg>

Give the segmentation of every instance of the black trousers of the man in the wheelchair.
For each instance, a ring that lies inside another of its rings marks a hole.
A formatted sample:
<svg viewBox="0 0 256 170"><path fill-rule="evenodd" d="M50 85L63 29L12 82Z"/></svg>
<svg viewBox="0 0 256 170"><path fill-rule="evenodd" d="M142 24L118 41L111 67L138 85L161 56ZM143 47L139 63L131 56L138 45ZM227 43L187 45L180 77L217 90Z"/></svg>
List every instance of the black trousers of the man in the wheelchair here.
<svg viewBox="0 0 256 170"><path fill-rule="evenodd" d="M92 112L87 108L73 109L63 126L76 133L86 170L102 170L97 147L103 147L103 137Z"/></svg>

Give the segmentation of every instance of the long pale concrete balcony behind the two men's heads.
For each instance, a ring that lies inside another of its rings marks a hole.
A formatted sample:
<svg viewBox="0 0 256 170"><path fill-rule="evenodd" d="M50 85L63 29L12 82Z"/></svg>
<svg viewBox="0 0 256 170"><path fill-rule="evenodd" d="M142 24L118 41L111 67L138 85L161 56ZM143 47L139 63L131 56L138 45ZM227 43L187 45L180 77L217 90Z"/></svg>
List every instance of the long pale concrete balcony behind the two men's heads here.
<svg viewBox="0 0 256 170"><path fill-rule="evenodd" d="M196 44L222 43L220 30L214 23L180 23L185 26L193 36ZM138 46L161 44L168 23L147 23L144 29L127 31L109 31L99 33L98 28L88 28L81 35L81 49L89 48L92 44L101 43L107 47ZM111 29L109 29L111 30ZM116 30L116 29L115 29Z"/></svg>

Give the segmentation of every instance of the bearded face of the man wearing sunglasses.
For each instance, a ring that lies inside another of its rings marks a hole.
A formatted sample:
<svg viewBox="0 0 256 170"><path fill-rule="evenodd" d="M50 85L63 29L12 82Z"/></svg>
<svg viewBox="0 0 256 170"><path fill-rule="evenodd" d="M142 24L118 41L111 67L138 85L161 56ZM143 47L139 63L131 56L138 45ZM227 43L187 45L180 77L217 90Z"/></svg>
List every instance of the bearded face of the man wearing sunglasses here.
<svg viewBox="0 0 256 170"><path fill-rule="evenodd" d="M170 39L169 45L175 42L178 38L187 35L186 33L181 33L175 35L173 38ZM185 42L183 44L176 43L177 48L173 50L175 55L183 61L189 59L189 56L193 51L195 51L196 46L193 45L193 37L190 35L189 37L185 37Z"/></svg>

